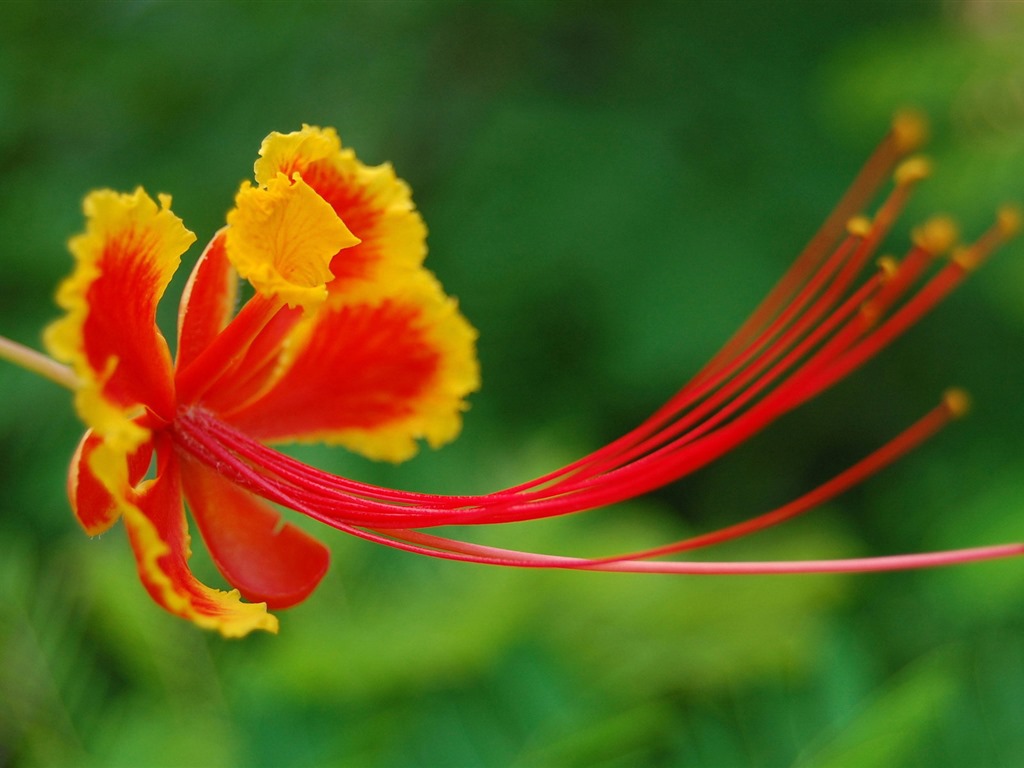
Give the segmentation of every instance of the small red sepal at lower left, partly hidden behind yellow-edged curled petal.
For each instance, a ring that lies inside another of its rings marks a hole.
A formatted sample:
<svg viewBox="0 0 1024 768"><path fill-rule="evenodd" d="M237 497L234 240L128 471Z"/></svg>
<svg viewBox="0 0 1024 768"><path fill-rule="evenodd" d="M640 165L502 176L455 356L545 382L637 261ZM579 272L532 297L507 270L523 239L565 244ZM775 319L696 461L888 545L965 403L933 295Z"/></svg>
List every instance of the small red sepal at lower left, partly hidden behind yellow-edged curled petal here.
<svg viewBox="0 0 1024 768"><path fill-rule="evenodd" d="M91 429L82 435L82 440L75 450L75 455L71 460L71 467L68 470L68 499L71 501L72 511L75 517L85 528L89 536L98 536L113 525L121 515L117 502L106 489L108 483L120 482L117 479L108 479L104 483L93 473L93 455L103 443L103 438L99 437ZM143 442L139 447L128 456L127 482L129 485L138 483L145 474L150 466L150 458L153 455L153 445ZM118 473L120 476L120 472Z"/></svg>

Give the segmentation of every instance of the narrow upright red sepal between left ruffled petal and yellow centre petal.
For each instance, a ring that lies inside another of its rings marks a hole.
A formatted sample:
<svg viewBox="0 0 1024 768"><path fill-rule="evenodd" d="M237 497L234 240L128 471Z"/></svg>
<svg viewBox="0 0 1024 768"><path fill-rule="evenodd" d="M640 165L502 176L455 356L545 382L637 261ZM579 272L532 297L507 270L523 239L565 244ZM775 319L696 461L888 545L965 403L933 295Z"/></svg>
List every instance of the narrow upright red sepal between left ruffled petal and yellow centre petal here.
<svg viewBox="0 0 1024 768"><path fill-rule="evenodd" d="M210 241L193 269L178 308L178 353L180 371L216 338L234 312L238 275L227 260L224 230Z"/></svg>

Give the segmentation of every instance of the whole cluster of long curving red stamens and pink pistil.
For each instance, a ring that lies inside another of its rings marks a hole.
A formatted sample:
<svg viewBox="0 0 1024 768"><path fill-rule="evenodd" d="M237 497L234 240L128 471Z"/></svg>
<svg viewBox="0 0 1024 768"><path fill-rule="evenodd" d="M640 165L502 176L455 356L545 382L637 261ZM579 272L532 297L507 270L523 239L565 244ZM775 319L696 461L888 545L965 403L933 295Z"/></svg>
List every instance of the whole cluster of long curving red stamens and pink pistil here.
<svg viewBox="0 0 1024 768"><path fill-rule="evenodd" d="M180 450L242 487L353 536L434 557L522 567L664 573L797 573L916 568L1024 554L1024 545L848 560L680 562L651 558L707 548L779 524L821 505L920 445L961 413L965 399L943 402L847 470L771 512L652 549L602 558L517 552L459 542L414 528L517 522L582 512L648 493L722 457L786 412L862 366L930 311L1016 226L1010 214L973 246L927 278L953 239L944 220L929 222L896 263L862 278L902 211L927 163L911 159L871 221L855 219L896 163L915 148L921 126L899 118L821 229L722 350L649 419L608 445L553 472L492 494L442 496L378 487L304 465L275 452L201 407L174 425ZM844 237L843 230L849 228ZM248 308L248 307L247 307ZM255 314L254 314L255 312ZM266 325L269 307L246 309L232 323L244 354ZM243 321L243 322L240 322ZM245 337L245 338L243 338ZM223 342L227 343L227 342ZM209 351L209 350L208 350ZM203 354L179 376L200 391L213 371ZM209 369L209 370L208 370ZM182 398L181 401L196 402ZM218 412L220 409L217 409ZM229 414L224 417L229 421Z"/></svg>

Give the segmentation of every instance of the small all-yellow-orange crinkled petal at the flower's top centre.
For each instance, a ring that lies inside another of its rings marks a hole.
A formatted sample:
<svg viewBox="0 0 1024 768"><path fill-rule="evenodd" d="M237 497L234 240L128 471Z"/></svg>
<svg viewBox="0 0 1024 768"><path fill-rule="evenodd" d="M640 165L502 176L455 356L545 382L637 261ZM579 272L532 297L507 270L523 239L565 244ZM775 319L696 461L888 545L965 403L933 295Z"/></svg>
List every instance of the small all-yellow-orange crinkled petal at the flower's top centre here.
<svg viewBox="0 0 1024 768"><path fill-rule="evenodd" d="M227 258L262 296L290 306L327 298L328 265L358 243L334 210L298 174L263 186L246 182L227 214Z"/></svg>

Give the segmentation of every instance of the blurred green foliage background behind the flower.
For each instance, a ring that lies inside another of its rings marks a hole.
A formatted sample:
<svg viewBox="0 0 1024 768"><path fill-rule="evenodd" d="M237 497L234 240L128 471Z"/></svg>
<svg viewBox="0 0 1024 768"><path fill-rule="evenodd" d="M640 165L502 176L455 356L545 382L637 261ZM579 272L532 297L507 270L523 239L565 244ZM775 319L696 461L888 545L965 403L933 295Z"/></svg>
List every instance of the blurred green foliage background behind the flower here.
<svg viewBox="0 0 1024 768"><path fill-rule="evenodd" d="M412 184L429 263L480 330L484 386L460 440L406 465L302 457L496 489L603 444L692 374L894 110L932 116L939 172L893 249L932 211L970 236L1024 198L1022 41L1018 2L3 3L0 333L38 345L87 190L171 193L204 242L266 133L333 125ZM623 551L766 511L950 384L974 395L970 419L721 555L1019 541L1022 257L1008 248L715 467L490 541ZM67 392L2 365L0 394L0 766L1024 764L1022 563L534 572L321 530L325 585L280 636L230 642L150 601L123 530L78 529Z"/></svg>

